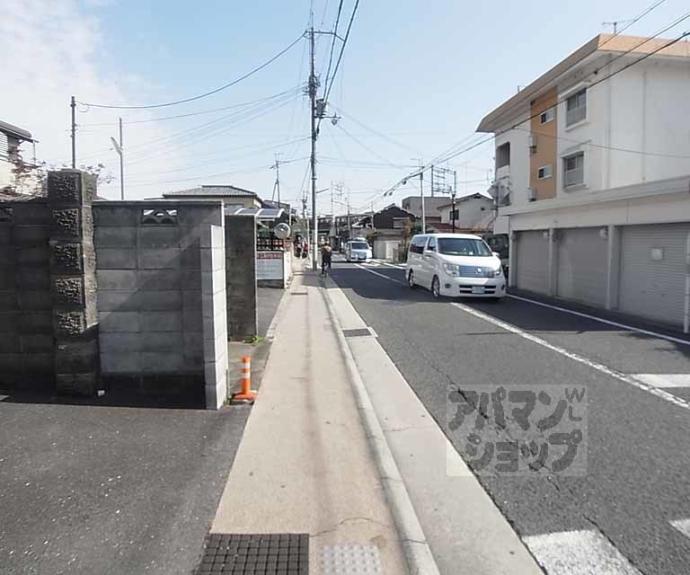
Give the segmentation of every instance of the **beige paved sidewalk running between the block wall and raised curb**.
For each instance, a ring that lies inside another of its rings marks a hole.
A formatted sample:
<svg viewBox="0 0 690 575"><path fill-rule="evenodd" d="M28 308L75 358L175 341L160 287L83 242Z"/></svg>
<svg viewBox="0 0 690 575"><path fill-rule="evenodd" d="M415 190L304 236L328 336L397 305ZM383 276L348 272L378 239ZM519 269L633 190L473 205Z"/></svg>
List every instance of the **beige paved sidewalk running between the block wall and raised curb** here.
<svg viewBox="0 0 690 575"><path fill-rule="evenodd" d="M338 557L372 568L380 561L379 571L363 572L403 574L398 533L318 285L315 275L298 272L280 305L211 534L308 534L312 574L340 572Z"/></svg>

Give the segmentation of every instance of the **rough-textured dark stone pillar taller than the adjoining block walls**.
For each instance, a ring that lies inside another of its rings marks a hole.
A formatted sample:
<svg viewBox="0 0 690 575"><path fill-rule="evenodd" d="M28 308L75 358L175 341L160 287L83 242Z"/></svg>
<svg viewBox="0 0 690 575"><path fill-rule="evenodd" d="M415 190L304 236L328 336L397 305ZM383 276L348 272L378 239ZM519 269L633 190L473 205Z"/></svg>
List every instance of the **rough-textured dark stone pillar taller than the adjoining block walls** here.
<svg viewBox="0 0 690 575"><path fill-rule="evenodd" d="M96 178L79 170L48 173L50 284L58 393L93 395L98 381L96 255L91 204Z"/></svg>

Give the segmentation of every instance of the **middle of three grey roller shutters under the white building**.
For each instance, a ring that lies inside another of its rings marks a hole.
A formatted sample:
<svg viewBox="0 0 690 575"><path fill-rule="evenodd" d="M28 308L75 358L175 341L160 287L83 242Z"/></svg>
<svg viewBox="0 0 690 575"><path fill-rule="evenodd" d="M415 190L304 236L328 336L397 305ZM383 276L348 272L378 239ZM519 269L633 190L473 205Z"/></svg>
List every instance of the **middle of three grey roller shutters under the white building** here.
<svg viewBox="0 0 690 575"><path fill-rule="evenodd" d="M558 297L606 305L608 242L600 228L558 230Z"/></svg>

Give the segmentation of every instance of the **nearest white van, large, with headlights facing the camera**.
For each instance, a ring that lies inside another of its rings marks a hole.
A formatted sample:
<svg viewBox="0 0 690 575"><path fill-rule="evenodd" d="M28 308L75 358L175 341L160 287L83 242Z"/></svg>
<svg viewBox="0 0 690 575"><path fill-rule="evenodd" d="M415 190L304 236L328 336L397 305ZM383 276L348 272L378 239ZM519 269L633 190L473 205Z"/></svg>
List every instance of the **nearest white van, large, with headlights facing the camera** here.
<svg viewBox="0 0 690 575"><path fill-rule="evenodd" d="M425 287L435 298L502 298L506 294L500 258L482 238L470 234L414 236L405 276L411 288Z"/></svg>

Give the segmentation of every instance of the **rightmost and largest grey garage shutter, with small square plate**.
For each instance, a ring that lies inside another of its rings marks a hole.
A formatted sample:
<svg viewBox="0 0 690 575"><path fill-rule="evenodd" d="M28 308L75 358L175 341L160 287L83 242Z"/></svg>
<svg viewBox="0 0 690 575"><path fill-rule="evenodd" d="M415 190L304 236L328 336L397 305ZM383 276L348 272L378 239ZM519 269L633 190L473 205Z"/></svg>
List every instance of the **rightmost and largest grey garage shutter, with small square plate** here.
<svg viewBox="0 0 690 575"><path fill-rule="evenodd" d="M690 223L622 228L621 311L682 325L689 233Z"/></svg>

